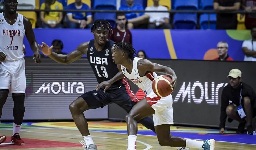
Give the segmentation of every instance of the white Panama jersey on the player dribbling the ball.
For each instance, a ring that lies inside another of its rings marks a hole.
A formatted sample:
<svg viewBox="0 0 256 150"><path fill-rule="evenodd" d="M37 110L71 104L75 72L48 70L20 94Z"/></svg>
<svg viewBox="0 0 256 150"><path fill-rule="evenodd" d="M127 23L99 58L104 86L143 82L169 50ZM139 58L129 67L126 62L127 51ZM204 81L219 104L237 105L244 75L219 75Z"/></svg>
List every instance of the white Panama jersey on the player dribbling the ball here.
<svg viewBox="0 0 256 150"><path fill-rule="evenodd" d="M132 67L132 71L130 74L127 72L126 67L124 67L122 65L121 65L121 70L122 70L123 74L129 80L131 80L140 89L142 89L144 91L144 93L146 93L146 95L148 95L153 92L152 83L153 83L153 80L157 77L157 74L155 72L149 72L145 76L141 77L139 75L139 71L138 71L138 67L137 67L137 62L140 59L142 59L142 58L138 58L138 57L134 58L133 67Z"/></svg>

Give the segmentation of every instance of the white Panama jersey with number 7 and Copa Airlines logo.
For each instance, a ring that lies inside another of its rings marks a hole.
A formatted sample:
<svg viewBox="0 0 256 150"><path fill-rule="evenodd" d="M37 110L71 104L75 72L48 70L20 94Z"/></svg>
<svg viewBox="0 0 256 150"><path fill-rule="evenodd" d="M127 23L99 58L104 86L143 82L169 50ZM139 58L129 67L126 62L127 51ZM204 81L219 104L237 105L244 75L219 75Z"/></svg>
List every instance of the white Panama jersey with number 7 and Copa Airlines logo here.
<svg viewBox="0 0 256 150"><path fill-rule="evenodd" d="M0 13L0 51L9 61L19 60L24 57L22 43L25 36L23 16L18 13L16 22L10 25Z"/></svg>

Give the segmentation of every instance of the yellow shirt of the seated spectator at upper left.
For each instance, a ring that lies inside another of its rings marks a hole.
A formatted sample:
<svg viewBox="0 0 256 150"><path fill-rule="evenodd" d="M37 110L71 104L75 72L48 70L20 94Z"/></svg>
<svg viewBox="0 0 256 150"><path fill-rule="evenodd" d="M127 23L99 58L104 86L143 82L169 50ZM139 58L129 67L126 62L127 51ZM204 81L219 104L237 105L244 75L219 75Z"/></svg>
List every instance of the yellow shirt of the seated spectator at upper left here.
<svg viewBox="0 0 256 150"><path fill-rule="evenodd" d="M45 9L45 3L42 3L40 9ZM63 10L63 5L56 1L50 5L50 9L51 10ZM46 21L58 21L59 17L60 17L60 13L61 12L49 12L49 14L47 14L46 12L44 12L44 19Z"/></svg>

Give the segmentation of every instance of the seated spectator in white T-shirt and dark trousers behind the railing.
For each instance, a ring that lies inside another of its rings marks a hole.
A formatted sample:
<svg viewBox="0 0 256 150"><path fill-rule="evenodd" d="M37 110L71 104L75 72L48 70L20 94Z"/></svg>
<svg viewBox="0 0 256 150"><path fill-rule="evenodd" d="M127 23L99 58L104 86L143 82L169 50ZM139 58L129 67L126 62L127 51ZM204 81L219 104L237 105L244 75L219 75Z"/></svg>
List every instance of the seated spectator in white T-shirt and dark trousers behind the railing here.
<svg viewBox="0 0 256 150"><path fill-rule="evenodd" d="M152 6L146 7L146 11L168 11L167 7L159 5L159 0L153 0ZM149 16L148 29L171 29L169 13L145 13Z"/></svg>

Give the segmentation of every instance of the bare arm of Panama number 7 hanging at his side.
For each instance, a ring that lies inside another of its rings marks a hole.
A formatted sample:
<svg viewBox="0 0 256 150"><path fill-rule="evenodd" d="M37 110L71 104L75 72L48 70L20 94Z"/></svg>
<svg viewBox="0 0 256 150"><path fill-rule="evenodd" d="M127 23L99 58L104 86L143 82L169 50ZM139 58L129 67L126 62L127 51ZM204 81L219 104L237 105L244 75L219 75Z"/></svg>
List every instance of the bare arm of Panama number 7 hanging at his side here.
<svg viewBox="0 0 256 150"><path fill-rule="evenodd" d="M35 41L35 34L34 34L34 31L33 31L33 28L32 28L32 24L29 21L29 19L27 19L24 16L23 16L23 23L24 23L25 34L26 34L26 37L28 39L30 48L34 52L33 58L35 59L35 63L40 63L41 62L41 55L38 51L39 47L38 47L37 41Z"/></svg>

